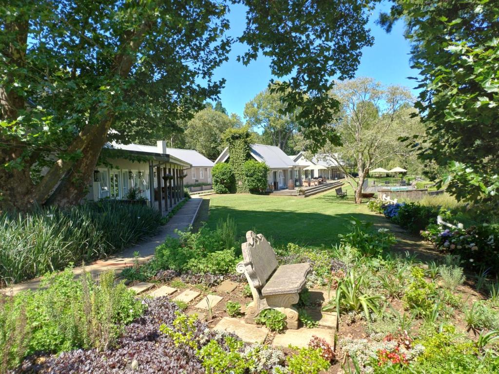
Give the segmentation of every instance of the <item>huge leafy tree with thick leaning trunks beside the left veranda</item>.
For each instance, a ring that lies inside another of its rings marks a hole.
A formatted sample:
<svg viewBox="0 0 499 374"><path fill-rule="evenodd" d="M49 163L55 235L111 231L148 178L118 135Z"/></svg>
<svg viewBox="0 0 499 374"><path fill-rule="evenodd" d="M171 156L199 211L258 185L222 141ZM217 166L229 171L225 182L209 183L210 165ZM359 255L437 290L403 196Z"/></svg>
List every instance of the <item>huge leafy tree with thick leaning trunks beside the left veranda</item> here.
<svg viewBox="0 0 499 374"><path fill-rule="evenodd" d="M14 0L0 14L3 207L78 202L107 140L188 118L223 84L215 1Z"/></svg>

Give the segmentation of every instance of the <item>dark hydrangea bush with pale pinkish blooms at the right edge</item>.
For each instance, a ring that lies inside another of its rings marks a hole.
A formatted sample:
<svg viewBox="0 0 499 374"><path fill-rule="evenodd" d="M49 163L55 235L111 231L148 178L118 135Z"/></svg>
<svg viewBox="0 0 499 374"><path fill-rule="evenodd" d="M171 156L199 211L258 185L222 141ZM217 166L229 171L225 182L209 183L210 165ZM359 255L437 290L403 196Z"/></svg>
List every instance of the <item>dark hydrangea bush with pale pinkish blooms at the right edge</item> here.
<svg viewBox="0 0 499 374"><path fill-rule="evenodd" d="M460 256L463 266L475 271L490 268L499 274L498 225L482 224L466 229L443 229L430 224L421 236L431 241L436 249Z"/></svg>

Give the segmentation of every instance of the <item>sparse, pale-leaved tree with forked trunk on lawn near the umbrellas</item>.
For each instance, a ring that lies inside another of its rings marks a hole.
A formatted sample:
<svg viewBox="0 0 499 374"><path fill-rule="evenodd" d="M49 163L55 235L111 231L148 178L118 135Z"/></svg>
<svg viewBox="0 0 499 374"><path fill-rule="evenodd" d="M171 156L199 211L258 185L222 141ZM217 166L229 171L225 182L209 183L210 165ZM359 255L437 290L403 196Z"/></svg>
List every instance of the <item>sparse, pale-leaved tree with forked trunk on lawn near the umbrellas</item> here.
<svg viewBox="0 0 499 374"><path fill-rule="evenodd" d="M369 170L400 153L396 129L410 119L411 94L404 87L383 87L371 78L357 78L337 83L332 95L341 101L341 112L332 126L342 144L330 145L326 151L355 190L355 202L360 203ZM356 167L358 178L353 178L350 166Z"/></svg>

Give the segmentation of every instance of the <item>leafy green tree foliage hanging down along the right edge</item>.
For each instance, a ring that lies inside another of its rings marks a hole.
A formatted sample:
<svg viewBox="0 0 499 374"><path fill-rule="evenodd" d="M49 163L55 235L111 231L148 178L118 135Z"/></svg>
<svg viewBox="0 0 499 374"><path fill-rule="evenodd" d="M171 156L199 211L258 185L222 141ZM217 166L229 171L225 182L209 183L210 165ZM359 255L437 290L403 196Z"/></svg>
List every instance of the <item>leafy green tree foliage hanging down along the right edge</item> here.
<svg viewBox="0 0 499 374"><path fill-rule="evenodd" d="M494 0L395 0L382 25L407 24L422 89L421 158L451 166L447 191L499 206L499 7Z"/></svg>

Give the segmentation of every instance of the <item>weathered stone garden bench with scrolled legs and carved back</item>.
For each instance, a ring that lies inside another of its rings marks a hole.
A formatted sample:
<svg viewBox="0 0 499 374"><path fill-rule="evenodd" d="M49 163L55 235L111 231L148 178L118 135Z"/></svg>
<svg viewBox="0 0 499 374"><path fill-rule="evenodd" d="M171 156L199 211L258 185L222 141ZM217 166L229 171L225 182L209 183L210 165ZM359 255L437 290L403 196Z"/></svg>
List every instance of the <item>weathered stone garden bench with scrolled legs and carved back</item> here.
<svg viewBox="0 0 499 374"><path fill-rule="evenodd" d="M254 324L262 310L276 309L286 315L288 329L297 329L298 311L292 305L298 302L298 294L305 287L310 264L278 266L275 252L263 235L248 231L246 240L241 246L243 261L236 268L246 275L253 296L245 321Z"/></svg>

